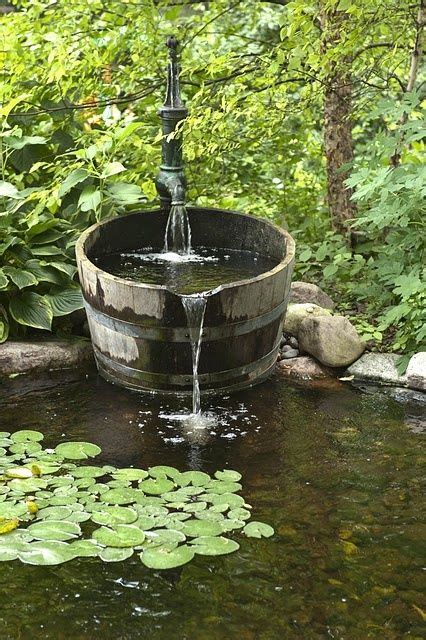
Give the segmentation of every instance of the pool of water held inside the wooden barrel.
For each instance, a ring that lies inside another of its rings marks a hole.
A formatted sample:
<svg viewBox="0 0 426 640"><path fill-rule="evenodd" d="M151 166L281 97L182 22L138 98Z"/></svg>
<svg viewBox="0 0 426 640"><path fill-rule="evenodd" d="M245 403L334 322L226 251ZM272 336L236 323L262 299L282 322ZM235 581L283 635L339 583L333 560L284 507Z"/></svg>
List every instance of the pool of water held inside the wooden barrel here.
<svg viewBox="0 0 426 640"><path fill-rule="evenodd" d="M95 264L108 273L133 282L165 285L178 294L210 291L222 284L254 278L278 263L250 251L197 247L178 254L146 249L104 254Z"/></svg>

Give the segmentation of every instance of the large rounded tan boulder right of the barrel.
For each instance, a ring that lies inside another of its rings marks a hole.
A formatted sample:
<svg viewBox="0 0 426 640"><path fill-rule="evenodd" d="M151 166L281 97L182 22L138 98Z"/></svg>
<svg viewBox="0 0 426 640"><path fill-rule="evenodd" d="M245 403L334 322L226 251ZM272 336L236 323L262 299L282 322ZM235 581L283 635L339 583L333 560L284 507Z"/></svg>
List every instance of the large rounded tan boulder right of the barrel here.
<svg viewBox="0 0 426 640"><path fill-rule="evenodd" d="M357 360L365 344L343 316L305 318L299 327L300 350L327 367L346 367Z"/></svg>

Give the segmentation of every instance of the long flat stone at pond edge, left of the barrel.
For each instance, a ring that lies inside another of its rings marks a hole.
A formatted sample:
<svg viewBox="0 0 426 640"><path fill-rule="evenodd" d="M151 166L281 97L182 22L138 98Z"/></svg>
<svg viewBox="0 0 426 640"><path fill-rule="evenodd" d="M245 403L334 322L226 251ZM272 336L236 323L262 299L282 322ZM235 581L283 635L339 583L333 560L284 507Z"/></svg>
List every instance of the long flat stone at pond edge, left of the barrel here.
<svg viewBox="0 0 426 640"><path fill-rule="evenodd" d="M92 360L92 345L85 340L43 342L10 340L0 345L0 376L80 368Z"/></svg>

